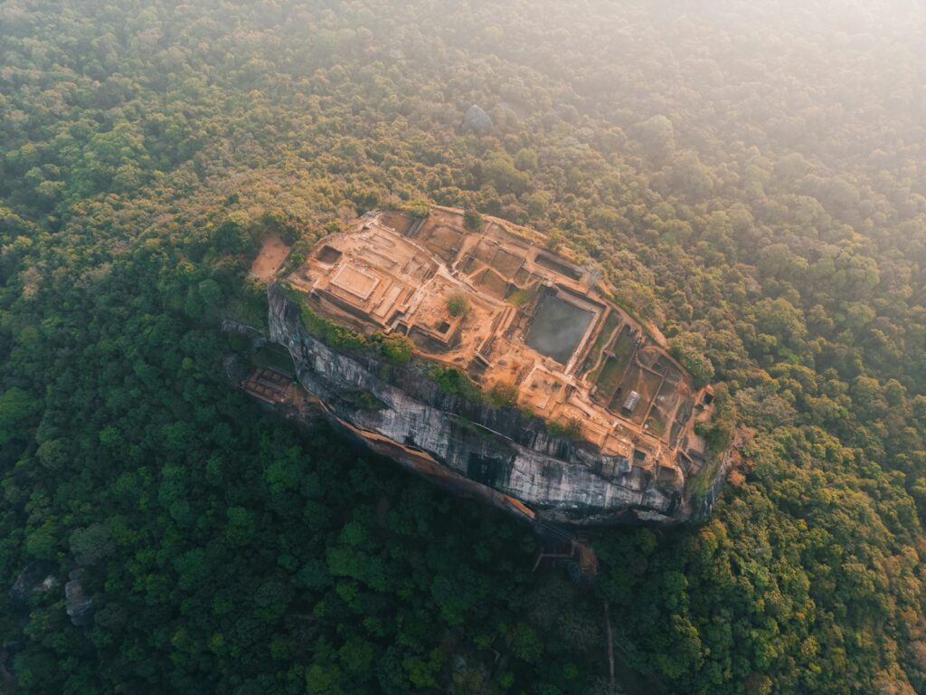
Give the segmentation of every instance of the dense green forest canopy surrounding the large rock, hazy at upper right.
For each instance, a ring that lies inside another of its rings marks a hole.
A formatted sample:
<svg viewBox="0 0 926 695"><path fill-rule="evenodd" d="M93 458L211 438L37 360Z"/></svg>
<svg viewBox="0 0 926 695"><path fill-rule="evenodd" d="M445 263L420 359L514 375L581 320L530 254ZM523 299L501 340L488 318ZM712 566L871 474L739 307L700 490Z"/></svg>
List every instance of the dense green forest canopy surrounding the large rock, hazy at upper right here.
<svg viewBox="0 0 926 695"><path fill-rule="evenodd" d="M926 691L924 86L914 0L0 2L0 693ZM534 571L235 388L266 234L425 202L717 385L707 522Z"/></svg>

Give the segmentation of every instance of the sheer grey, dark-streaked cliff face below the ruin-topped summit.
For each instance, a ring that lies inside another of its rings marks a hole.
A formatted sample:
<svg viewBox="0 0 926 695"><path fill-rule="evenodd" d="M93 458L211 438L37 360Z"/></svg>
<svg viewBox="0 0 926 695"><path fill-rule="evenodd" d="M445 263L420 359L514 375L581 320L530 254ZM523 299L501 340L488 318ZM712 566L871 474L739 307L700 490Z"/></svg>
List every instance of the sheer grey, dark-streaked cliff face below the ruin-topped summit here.
<svg viewBox="0 0 926 695"><path fill-rule="evenodd" d="M270 339L293 357L299 382L332 425L435 482L532 520L572 524L682 522L711 499L687 499L684 478L655 475L591 445L549 436L538 418L447 394L413 360L396 364L324 345L276 285Z"/></svg>

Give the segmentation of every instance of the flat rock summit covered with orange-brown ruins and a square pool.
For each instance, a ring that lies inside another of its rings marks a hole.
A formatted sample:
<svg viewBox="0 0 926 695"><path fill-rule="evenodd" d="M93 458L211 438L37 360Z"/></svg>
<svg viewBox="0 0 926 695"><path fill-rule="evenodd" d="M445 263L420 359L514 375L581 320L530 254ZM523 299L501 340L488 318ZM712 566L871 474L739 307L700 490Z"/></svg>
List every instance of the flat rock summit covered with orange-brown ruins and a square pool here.
<svg viewBox="0 0 926 695"><path fill-rule="evenodd" d="M691 377L543 241L492 218L468 231L450 208L423 220L376 212L322 240L288 280L332 320L407 335L420 356L487 391L513 385L519 407L579 423L603 453L668 475L696 441ZM452 298L465 310L451 311Z"/></svg>

